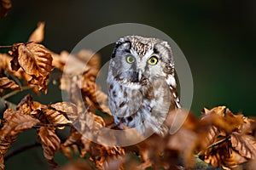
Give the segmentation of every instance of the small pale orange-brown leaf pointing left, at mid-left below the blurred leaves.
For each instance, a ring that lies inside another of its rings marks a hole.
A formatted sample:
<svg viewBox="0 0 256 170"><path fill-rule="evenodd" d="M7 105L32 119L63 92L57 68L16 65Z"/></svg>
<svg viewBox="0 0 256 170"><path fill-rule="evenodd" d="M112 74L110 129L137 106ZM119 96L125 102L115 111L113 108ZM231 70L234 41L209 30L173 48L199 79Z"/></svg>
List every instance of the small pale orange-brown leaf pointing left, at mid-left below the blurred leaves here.
<svg viewBox="0 0 256 170"><path fill-rule="evenodd" d="M59 102L50 105L50 107L54 108L56 111L61 111L67 114L68 118L73 122L78 118L78 108L76 105L73 105L69 102Z"/></svg>

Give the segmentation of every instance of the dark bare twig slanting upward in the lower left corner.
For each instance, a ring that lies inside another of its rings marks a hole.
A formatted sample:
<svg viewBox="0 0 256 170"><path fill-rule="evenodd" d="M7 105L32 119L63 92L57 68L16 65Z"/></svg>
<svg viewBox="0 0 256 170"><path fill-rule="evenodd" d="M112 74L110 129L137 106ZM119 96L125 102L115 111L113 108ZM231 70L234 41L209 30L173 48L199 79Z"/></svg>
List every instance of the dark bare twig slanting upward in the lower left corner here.
<svg viewBox="0 0 256 170"><path fill-rule="evenodd" d="M29 150L29 149L32 149L32 148L38 147L38 146L41 146L41 144L39 142L33 142L31 144L21 145L20 147L18 147L16 149L11 150L8 153L6 153L4 155L4 161L7 161L10 157L18 155L18 154L20 154L23 151L26 151L26 150Z"/></svg>

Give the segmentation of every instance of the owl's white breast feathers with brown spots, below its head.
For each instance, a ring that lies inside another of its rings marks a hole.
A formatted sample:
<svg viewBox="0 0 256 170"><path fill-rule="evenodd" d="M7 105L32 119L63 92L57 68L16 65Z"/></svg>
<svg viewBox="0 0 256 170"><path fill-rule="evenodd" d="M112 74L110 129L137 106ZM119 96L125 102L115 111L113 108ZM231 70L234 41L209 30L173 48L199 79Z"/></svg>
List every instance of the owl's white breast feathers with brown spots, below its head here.
<svg viewBox="0 0 256 170"><path fill-rule="evenodd" d="M160 133L168 112L176 107L164 78L154 78L141 88L112 83L109 87L109 106L116 124L136 127L141 133L147 128Z"/></svg>

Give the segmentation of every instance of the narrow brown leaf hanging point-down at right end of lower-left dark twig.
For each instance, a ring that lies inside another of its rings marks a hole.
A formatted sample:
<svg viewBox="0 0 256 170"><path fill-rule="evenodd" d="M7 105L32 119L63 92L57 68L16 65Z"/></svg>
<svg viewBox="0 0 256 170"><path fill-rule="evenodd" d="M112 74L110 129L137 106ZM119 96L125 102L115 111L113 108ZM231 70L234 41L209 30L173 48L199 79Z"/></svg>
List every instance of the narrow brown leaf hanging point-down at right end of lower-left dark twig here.
<svg viewBox="0 0 256 170"><path fill-rule="evenodd" d="M55 133L55 127L40 127L38 138L44 150L44 157L53 161L55 152L60 149L61 139Z"/></svg>

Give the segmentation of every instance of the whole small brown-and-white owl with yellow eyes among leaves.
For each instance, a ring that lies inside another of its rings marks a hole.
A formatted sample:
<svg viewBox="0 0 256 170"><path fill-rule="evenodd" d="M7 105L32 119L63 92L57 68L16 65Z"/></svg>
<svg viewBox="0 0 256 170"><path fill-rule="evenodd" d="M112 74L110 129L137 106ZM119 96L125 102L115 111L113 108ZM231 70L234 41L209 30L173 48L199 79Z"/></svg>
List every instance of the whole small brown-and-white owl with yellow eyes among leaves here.
<svg viewBox="0 0 256 170"><path fill-rule="evenodd" d="M127 36L116 42L108 69L108 104L114 123L139 133L163 134L167 114L180 107L168 42Z"/></svg>

